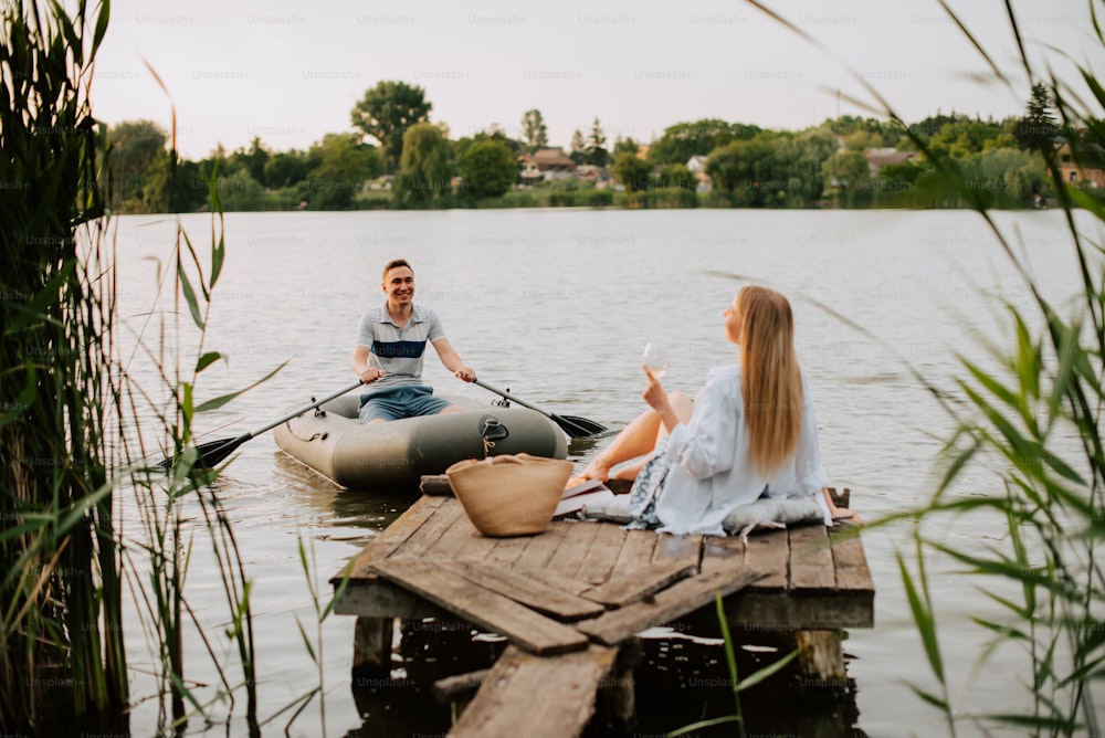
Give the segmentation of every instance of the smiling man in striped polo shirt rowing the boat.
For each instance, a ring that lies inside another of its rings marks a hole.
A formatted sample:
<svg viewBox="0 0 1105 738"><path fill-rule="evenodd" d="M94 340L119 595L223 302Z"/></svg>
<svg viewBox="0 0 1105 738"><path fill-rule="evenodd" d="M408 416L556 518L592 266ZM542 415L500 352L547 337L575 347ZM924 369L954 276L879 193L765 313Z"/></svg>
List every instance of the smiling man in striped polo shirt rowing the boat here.
<svg viewBox="0 0 1105 738"><path fill-rule="evenodd" d="M368 388L360 396L360 422L383 423L463 410L433 397L433 388L422 382L427 342L459 379L475 381L476 372L464 366L445 338L438 314L414 304L414 270L407 260L392 260L383 267L381 286L388 298L360 317L352 349L352 370Z"/></svg>

